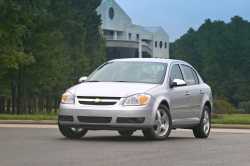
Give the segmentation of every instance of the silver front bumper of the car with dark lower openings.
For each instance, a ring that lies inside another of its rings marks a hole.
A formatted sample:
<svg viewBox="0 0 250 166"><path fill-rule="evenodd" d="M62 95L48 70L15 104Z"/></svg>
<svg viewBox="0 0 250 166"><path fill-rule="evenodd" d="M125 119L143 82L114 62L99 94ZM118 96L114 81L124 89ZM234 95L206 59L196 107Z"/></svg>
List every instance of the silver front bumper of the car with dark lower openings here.
<svg viewBox="0 0 250 166"><path fill-rule="evenodd" d="M143 129L154 125L153 104L148 106L60 105L59 123L89 130Z"/></svg>

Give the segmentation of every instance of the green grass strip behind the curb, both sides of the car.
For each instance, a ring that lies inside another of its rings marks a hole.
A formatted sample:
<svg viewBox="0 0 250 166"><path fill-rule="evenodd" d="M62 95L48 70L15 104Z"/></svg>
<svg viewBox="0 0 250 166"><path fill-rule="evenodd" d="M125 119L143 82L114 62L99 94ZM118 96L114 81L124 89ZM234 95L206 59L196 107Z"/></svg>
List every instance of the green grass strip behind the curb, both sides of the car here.
<svg viewBox="0 0 250 166"><path fill-rule="evenodd" d="M34 115L10 115L0 114L0 120L57 120L56 114L34 114ZM248 124L250 125L250 114L215 115L213 124Z"/></svg>

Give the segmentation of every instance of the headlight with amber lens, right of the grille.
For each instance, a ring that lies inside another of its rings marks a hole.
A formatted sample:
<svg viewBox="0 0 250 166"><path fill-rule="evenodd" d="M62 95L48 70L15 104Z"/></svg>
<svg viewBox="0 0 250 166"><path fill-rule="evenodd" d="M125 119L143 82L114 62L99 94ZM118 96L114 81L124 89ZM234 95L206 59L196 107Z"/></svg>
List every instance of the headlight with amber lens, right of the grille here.
<svg viewBox="0 0 250 166"><path fill-rule="evenodd" d="M123 105L125 106L143 106L147 105L151 99L150 95L147 94L136 94L129 96L125 99Z"/></svg>

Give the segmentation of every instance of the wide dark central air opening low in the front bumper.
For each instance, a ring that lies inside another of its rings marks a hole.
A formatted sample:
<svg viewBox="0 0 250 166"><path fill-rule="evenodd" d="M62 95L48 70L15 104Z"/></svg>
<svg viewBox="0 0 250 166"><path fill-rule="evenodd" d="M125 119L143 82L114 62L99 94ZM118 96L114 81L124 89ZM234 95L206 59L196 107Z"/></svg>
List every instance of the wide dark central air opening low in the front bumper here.
<svg viewBox="0 0 250 166"><path fill-rule="evenodd" d="M111 117L95 117L95 116L78 116L79 122L82 123L110 123Z"/></svg>

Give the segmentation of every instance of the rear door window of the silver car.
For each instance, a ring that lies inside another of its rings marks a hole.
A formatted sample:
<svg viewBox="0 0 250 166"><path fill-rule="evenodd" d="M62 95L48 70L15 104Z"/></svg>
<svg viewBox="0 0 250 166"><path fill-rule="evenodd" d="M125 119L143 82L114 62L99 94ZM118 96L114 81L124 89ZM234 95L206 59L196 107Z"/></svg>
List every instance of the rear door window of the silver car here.
<svg viewBox="0 0 250 166"><path fill-rule="evenodd" d="M188 85L199 84L199 79L196 72L187 65L181 65L183 69L184 79Z"/></svg>

